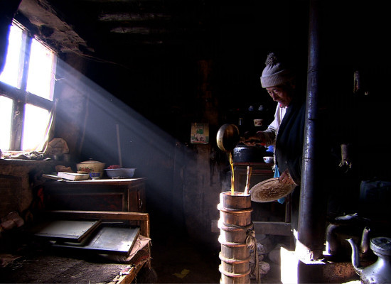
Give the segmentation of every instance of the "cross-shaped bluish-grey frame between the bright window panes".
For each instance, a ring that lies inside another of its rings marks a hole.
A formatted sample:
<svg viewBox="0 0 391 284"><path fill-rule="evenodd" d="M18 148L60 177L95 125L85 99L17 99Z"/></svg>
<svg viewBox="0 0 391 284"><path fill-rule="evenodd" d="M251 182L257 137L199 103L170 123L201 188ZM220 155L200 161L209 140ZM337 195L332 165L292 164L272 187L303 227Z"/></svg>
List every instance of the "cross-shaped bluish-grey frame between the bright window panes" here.
<svg viewBox="0 0 391 284"><path fill-rule="evenodd" d="M43 43L38 37L33 35L26 26L21 25L15 19L13 24L22 29L22 47L21 47L21 60L19 60L19 74L17 87L11 86L0 81L0 96L8 97L12 99L12 119L11 119L11 141L9 151L21 151L22 148L22 136L23 136L23 125L25 119L25 106L26 104L32 104L36 107L41 107L51 111L55 105L55 80L52 79L51 89L53 92L53 100L45 99L31 92L27 92L27 80L28 80L28 65L31 56L31 44L33 38L38 40L39 43L45 46L45 48L53 51L53 66L52 71L56 72L58 57L53 48L50 48L47 44ZM4 149L5 150L5 149Z"/></svg>

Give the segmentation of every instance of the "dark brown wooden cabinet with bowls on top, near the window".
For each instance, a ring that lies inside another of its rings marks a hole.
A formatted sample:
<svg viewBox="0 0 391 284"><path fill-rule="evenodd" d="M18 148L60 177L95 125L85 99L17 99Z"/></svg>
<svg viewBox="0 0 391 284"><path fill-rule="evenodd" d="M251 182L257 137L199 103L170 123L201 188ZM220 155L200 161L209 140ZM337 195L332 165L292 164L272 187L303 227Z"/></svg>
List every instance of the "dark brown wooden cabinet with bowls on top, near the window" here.
<svg viewBox="0 0 391 284"><path fill-rule="evenodd" d="M145 212L145 180L50 180L43 184L45 209Z"/></svg>

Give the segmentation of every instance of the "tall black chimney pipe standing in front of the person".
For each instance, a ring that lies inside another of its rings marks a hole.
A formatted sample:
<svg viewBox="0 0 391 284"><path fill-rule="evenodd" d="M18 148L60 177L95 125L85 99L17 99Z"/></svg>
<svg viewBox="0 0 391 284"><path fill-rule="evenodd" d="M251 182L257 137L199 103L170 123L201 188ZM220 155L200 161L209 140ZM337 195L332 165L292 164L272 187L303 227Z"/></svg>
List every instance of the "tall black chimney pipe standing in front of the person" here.
<svg viewBox="0 0 391 284"><path fill-rule="evenodd" d="M309 250L311 260L323 256L326 222L326 197L321 177L319 101L319 5L309 3L309 55L307 69L306 129L304 132L303 166L299 210L298 240Z"/></svg>

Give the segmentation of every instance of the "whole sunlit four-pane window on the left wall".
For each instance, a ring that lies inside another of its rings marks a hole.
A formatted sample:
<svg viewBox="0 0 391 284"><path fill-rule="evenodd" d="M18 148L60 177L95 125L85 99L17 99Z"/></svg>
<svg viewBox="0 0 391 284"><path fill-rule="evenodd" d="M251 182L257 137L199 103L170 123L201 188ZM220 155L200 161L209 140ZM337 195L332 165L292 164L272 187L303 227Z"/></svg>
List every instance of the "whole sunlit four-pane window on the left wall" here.
<svg viewBox="0 0 391 284"><path fill-rule="evenodd" d="M0 149L41 151L54 107L56 57L16 21L0 74Z"/></svg>

